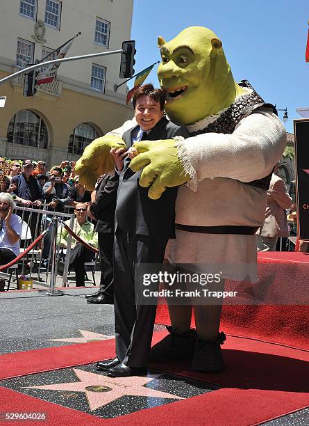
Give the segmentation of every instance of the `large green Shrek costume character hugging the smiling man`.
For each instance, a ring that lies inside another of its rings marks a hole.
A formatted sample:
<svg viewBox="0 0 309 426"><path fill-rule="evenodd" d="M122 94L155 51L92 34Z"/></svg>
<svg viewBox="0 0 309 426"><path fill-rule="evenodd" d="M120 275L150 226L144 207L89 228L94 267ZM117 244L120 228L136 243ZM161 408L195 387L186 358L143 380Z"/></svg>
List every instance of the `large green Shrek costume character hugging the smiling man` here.
<svg viewBox="0 0 309 426"><path fill-rule="evenodd" d="M158 79L169 93L165 111L192 136L135 143L140 155L131 168L144 167L140 184L149 187L150 198L186 183L178 189L178 229L166 255L172 263L233 265L235 276L226 271L223 278L256 281L255 232L264 221L269 178L285 148L285 129L249 84L235 83L222 42L209 29L192 26L169 42L160 37L158 45ZM121 144L119 135L128 127L132 123L104 136L100 149ZM99 155L90 147L78 163L85 181L92 173L87 164ZM152 348L151 360L192 359L194 370L222 370L221 306L194 306L197 341L190 330L192 306L169 306L169 313L169 336Z"/></svg>

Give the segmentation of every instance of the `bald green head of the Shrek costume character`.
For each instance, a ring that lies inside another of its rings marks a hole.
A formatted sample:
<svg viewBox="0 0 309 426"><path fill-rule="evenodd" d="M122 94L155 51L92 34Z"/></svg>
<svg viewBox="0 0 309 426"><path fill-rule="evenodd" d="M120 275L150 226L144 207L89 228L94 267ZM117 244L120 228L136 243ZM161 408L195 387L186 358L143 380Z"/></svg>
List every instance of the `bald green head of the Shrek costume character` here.
<svg viewBox="0 0 309 426"><path fill-rule="evenodd" d="M203 26L190 26L169 42L158 38L165 110L181 124L196 123L228 107L242 93L226 62L222 42Z"/></svg>

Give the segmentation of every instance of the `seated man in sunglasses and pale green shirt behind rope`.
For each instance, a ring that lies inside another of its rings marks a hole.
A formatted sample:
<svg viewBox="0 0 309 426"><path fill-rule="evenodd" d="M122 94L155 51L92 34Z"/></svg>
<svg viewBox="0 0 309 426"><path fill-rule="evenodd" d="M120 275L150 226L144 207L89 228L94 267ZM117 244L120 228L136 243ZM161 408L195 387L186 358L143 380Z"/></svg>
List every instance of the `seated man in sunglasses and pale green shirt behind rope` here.
<svg viewBox="0 0 309 426"><path fill-rule="evenodd" d="M73 232L90 246L98 248L98 234L94 231L94 225L90 221L87 221L87 206L84 203L76 204L74 213ZM65 223L69 226L70 221L66 221ZM63 226L60 228L60 247L67 248L69 233ZM94 260L94 252L75 239L72 239L71 252L69 254L69 271L75 271L76 287L85 285L85 262L91 262L92 260ZM58 262L58 274L63 274L64 267L63 262Z"/></svg>

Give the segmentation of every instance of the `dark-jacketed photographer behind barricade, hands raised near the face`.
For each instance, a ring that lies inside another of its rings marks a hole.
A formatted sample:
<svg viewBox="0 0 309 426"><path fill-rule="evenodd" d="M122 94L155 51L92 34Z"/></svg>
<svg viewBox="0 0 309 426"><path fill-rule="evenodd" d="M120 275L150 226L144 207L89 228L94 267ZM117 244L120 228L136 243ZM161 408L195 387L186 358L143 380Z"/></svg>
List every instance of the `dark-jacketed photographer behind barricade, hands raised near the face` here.
<svg viewBox="0 0 309 426"><path fill-rule="evenodd" d="M62 168L54 167L51 170L51 176L49 182L46 182L43 187L43 193L46 199L46 203L49 205L48 210L54 210L55 212L62 213L65 210L65 205L71 203L71 193L69 191L69 185L62 182ZM48 214L44 218L44 229L47 228L51 222L51 216ZM51 249L51 232L52 229L49 227L47 234L44 237L44 247L42 251L42 264L45 267L48 264L49 252Z"/></svg>

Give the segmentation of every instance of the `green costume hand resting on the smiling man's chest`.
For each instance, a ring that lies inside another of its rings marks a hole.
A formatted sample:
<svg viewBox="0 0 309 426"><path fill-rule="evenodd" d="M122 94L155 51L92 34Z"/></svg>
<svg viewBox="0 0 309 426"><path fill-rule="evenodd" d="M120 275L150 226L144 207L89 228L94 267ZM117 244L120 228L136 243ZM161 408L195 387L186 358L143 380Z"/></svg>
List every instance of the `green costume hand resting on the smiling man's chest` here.
<svg viewBox="0 0 309 426"><path fill-rule="evenodd" d="M167 188L178 187L190 180L178 159L176 141L135 142L133 147L139 152L130 163L133 171L144 168L140 177L140 186L149 188L148 196L158 200Z"/></svg>

